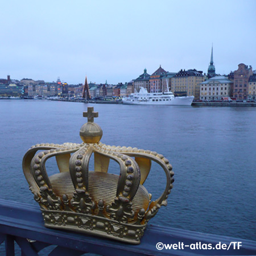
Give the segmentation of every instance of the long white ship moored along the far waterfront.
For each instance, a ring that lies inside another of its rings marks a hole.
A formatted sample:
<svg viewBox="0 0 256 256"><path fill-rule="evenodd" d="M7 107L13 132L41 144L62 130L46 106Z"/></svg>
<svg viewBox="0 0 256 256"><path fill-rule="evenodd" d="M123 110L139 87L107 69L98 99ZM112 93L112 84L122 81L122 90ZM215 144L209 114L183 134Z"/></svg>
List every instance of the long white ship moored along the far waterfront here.
<svg viewBox="0 0 256 256"><path fill-rule="evenodd" d="M148 93L141 87L139 93L131 93L123 98L123 104L131 105L177 105L191 106L194 96L175 97L172 92Z"/></svg>

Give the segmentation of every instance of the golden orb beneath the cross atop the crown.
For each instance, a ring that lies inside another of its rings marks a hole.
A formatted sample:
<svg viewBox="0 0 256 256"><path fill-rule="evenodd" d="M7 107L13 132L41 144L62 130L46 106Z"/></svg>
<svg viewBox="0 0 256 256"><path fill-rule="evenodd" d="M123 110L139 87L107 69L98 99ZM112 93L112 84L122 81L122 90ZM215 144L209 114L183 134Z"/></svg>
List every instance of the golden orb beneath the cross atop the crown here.
<svg viewBox="0 0 256 256"><path fill-rule="evenodd" d="M102 137L101 127L97 123L85 123L80 129L80 137L84 143L98 143Z"/></svg>

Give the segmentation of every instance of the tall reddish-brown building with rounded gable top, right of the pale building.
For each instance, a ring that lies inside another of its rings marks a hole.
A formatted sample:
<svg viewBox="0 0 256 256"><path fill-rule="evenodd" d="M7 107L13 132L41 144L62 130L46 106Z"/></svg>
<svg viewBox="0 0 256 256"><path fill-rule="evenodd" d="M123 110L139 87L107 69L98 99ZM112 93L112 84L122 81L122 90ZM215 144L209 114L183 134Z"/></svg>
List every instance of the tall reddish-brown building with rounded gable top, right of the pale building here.
<svg viewBox="0 0 256 256"><path fill-rule="evenodd" d="M247 100L248 97L248 81L249 77L253 75L251 66L243 63L238 65L238 69L234 71L234 89L233 96L237 100Z"/></svg>

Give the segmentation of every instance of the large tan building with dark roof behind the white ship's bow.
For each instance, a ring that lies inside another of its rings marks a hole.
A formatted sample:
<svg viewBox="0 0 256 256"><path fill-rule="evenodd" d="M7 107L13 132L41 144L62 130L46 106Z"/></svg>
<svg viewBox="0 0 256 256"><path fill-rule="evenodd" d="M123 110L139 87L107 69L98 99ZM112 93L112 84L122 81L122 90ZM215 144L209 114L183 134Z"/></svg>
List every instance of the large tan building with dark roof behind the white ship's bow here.
<svg viewBox="0 0 256 256"><path fill-rule="evenodd" d="M181 69L171 78L172 92L175 96L194 96L200 98L200 83L204 81L203 71Z"/></svg>

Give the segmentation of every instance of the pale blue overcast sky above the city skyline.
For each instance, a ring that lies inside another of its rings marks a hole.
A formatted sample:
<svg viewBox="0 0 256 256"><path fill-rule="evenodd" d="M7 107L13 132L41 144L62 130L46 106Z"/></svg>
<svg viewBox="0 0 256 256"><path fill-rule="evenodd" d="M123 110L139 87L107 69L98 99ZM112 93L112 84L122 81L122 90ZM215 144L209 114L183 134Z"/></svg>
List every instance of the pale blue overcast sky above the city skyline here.
<svg viewBox="0 0 256 256"><path fill-rule="evenodd" d="M256 1L2 1L0 78L109 84L153 73L256 69Z"/></svg>

